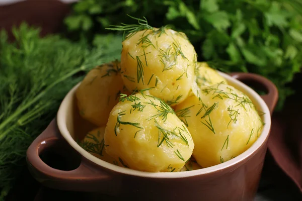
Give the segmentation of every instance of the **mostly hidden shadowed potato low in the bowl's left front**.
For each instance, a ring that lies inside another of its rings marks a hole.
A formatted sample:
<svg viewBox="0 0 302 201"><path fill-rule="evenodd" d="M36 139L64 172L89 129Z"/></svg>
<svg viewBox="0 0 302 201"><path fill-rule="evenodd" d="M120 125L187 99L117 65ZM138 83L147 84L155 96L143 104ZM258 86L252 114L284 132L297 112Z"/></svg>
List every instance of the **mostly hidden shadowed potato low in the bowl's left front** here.
<svg viewBox="0 0 302 201"><path fill-rule="evenodd" d="M108 163L121 165L119 161L114 160L105 150L104 134L105 126L96 128L90 131L80 143L81 147L94 155L95 157L104 160Z"/></svg>

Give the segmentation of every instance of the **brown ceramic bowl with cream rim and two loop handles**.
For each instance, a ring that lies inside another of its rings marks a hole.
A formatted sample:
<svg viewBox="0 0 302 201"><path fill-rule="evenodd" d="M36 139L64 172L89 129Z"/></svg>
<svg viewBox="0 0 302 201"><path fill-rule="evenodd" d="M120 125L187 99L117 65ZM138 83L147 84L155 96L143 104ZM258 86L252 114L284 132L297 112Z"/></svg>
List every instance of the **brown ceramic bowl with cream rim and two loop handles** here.
<svg viewBox="0 0 302 201"><path fill-rule="evenodd" d="M93 128L80 119L75 106L74 86L64 98L56 122L31 144L28 167L43 185L63 190L92 191L134 200L252 200L257 191L271 126L271 112L277 102L274 84L250 73L220 73L230 85L245 92L256 108L263 111L264 129L244 153L224 163L186 172L142 172L102 161L81 148L74 140ZM239 81L241 80L241 81ZM258 95L244 84L261 86L268 93ZM56 126L57 123L57 126ZM81 126L80 126L81 125ZM58 129L57 129L58 128ZM58 148L59 147L59 148ZM67 159L80 160L73 170L48 166L39 157L45 150L64 150Z"/></svg>

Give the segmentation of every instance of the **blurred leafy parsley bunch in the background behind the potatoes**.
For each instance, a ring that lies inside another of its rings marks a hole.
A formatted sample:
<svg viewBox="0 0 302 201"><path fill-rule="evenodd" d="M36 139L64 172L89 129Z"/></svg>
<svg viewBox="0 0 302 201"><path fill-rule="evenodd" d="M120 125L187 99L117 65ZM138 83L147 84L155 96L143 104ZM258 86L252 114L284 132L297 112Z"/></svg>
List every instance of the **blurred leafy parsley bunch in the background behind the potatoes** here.
<svg viewBox="0 0 302 201"><path fill-rule="evenodd" d="M214 68L268 77L279 89L279 109L293 92L285 85L302 63L300 0L82 0L65 23L93 38L110 25L133 24L126 15L154 27L171 24Z"/></svg>

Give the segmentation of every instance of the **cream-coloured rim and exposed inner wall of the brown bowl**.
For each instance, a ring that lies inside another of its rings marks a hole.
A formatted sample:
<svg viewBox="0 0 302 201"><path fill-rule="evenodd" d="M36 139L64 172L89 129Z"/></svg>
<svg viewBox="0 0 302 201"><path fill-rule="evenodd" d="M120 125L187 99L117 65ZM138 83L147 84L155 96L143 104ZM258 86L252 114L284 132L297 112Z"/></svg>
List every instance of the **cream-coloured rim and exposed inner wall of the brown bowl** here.
<svg viewBox="0 0 302 201"><path fill-rule="evenodd" d="M245 94L247 94L252 102L254 103L257 110L264 112L265 114L262 116L262 120L265 123L264 128L262 130L262 133L260 137L255 141L255 143L244 153L238 155L237 157L223 162L218 165L214 165L211 167L199 169L199 170L191 170L191 171L184 171L184 172L142 172L138 170L133 170L125 167L119 167L114 164L110 164L106 161L103 161L86 150L84 150L78 143L77 138L79 140L84 138L84 135L95 128L94 125L90 124L89 122L83 120L78 112L76 98L75 98L75 91L77 87L80 85L75 85L65 96L63 102L61 103L61 106L59 108L59 111L57 113L57 124L58 128L61 132L61 135L66 139L66 141L80 154L82 154L87 159L93 161L94 163L101 165L105 168L114 170L116 172L121 172L125 174L130 175L136 175L136 176L143 176L143 177L157 177L157 178L180 178L180 177L188 177L188 176L194 176L199 174L206 174L213 171L221 170L223 168L232 166L245 158L249 157L251 154L253 154L266 140L269 134L270 126L271 126L271 117L270 112L265 104L264 100L260 97L259 94L257 94L252 88L247 86L246 84L238 81L237 79L231 77L228 74L219 72L220 75L222 75L230 85L234 86L235 88L243 91Z"/></svg>

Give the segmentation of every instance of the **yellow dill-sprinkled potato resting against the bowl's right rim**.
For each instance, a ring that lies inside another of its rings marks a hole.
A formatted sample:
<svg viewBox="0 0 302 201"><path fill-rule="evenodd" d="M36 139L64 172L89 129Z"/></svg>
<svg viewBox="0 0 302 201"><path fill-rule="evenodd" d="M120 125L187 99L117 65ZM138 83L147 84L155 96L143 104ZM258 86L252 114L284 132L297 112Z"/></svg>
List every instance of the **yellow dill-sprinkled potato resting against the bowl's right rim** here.
<svg viewBox="0 0 302 201"><path fill-rule="evenodd" d="M218 83L201 88L177 105L176 114L188 127L202 167L230 160L246 151L259 137L262 120L251 99L236 88Z"/></svg>

